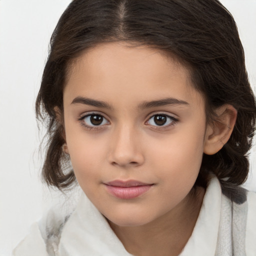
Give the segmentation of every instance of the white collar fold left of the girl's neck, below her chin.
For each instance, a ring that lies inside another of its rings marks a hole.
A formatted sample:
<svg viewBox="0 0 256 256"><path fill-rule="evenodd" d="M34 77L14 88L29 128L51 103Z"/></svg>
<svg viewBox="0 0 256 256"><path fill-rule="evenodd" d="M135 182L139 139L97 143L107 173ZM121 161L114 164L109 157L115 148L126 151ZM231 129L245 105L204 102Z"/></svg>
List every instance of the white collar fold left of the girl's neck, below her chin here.
<svg viewBox="0 0 256 256"><path fill-rule="evenodd" d="M61 256L131 255L84 193L63 227L58 251Z"/></svg>

